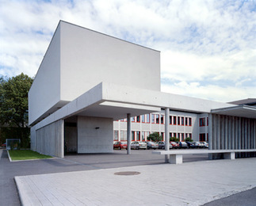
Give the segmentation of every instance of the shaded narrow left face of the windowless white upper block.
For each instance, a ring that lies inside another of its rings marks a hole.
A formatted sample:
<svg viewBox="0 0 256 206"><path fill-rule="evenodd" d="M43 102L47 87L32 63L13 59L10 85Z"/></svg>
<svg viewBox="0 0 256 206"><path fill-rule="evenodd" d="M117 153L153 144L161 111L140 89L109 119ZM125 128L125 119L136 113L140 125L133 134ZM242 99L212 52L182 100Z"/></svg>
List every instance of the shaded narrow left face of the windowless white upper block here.
<svg viewBox="0 0 256 206"><path fill-rule="evenodd" d="M58 27L29 90L29 124L51 110L54 105L56 108L61 106L58 105L59 100L60 29Z"/></svg>

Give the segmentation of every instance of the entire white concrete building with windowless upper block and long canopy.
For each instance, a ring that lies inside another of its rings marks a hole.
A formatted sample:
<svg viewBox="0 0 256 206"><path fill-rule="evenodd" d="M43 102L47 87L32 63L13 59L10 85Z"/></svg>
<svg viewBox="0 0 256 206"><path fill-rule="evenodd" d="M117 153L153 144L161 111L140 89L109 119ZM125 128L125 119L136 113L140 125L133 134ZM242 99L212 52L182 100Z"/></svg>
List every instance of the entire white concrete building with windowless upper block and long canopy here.
<svg viewBox="0 0 256 206"><path fill-rule="evenodd" d="M149 113L155 121L159 113L159 124L132 123L132 116ZM162 118L163 113L172 117ZM180 124L191 120L192 125L170 124L174 116ZM203 116L208 116L208 131L198 127ZM116 121L125 118L126 123ZM29 90L31 148L58 157L65 147L77 153L113 152L114 128L120 138L127 129L128 144L132 130L140 132L140 139L147 134L143 132L158 130L167 137L176 132L181 139L182 134L197 139L208 133L210 149L236 147L233 139L247 141L244 132L250 131L250 147L256 148L255 118L251 106L162 93L159 51L64 21L59 21ZM237 132L227 129L233 124Z"/></svg>

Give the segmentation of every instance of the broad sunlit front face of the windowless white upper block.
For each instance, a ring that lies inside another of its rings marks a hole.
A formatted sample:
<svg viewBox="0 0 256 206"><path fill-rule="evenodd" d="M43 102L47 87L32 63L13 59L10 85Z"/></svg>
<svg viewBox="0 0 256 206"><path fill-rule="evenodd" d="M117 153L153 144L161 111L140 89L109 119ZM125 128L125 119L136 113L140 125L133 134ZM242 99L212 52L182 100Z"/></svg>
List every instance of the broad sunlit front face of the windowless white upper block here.
<svg viewBox="0 0 256 206"><path fill-rule="evenodd" d="M100 82L160 91L160 52L60 21L61 99Z"/></svg>

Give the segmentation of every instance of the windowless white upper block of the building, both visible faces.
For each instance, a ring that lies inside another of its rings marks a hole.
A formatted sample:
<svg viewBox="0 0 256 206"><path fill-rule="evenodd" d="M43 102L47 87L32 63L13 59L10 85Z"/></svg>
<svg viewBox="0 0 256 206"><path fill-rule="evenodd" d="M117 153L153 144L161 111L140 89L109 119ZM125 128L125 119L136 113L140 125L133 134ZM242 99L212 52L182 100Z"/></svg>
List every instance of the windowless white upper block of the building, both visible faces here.
<svg viewBox="0 0 256 206"><path fill-rule="evenodd" d="M101 82L160 91L160 52L59 21L29 91L29 124Z"/></svg>

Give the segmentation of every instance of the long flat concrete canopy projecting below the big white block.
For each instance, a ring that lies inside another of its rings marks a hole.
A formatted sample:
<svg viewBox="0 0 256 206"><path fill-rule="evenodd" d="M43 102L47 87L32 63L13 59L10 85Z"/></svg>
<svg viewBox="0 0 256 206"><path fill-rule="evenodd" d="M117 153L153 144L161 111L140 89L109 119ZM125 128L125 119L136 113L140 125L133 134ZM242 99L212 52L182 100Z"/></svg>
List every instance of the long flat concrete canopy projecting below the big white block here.
<svg viewBox="0 0 256 206"><path fill-rule="evenodd" d="M139 116L159 112L162 108L191 113L210 113L211 109L230 106L216 101L101 82L41 120L36 124L36 128L42 128L71 116L95 116L120 120L126 118L128 113L131 116Z"/></svg>

